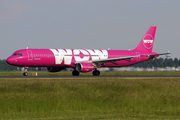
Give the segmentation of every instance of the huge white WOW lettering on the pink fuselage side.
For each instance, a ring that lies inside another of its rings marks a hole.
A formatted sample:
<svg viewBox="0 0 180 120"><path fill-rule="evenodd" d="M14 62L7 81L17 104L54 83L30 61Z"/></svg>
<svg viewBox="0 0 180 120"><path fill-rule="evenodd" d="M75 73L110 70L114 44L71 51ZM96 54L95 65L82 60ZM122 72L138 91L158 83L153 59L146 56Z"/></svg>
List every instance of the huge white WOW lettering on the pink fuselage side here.
<svg viewBox="0 0 180 120"><path fill-rule="evenodd" d="M55 56L55 64L61 64L64 60L65 65L70 65L72 60L89 61L97 59L107 59L107 50L91 49L50 49Z"/></svg>

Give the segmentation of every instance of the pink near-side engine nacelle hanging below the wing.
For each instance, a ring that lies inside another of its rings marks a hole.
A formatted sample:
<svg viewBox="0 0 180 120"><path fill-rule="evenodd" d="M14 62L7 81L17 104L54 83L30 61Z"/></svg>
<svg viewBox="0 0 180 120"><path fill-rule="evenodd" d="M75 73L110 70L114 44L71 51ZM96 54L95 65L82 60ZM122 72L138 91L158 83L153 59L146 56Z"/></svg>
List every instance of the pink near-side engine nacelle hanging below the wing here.
<svg viewBox="0 0 180 120"><path fill-rule="evenodd" d="M92 63L78 63L76 64L76 70L79 72L90 72L94 69Z"/></svg>

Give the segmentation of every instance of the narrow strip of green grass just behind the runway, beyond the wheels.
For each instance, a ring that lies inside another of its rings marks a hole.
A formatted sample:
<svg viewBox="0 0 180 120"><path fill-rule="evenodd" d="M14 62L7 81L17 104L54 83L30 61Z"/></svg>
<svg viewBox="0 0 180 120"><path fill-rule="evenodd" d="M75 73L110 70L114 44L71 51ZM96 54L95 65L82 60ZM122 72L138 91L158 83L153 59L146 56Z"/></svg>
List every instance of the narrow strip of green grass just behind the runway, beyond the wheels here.
<svg viewBox="0 0 180 120"><path fill-rule="evenodd" d="M28 72L28 76L32 76L32 73L35 72ZM51 72L39 72L37 71L38 76L72 76L71 72L55 72L55 73L51 73ZM0 76L22 76L23 72L0 72ZM80 76L88 76L88 75L92 75L92 72L87 72L87 73L80 73ZM180 75L180 72L101 72L100 75L120 75L120 76L132 76L132 75Z"/></svg>

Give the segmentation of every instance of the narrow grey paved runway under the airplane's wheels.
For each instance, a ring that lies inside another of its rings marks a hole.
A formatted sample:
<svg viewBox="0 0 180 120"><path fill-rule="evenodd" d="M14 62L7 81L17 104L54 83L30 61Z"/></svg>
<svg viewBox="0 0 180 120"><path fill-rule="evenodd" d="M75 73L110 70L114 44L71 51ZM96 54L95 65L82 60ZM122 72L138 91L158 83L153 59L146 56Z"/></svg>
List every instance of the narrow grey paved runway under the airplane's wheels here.
<svg viewBox="0 0 180 120"><path fill-rule="evenodd" d="M143 76L118 76L118 75L100 75L100 76L0 76L1 78L125 78L125 77L180 77L180 75L143 75Z"/></svg>

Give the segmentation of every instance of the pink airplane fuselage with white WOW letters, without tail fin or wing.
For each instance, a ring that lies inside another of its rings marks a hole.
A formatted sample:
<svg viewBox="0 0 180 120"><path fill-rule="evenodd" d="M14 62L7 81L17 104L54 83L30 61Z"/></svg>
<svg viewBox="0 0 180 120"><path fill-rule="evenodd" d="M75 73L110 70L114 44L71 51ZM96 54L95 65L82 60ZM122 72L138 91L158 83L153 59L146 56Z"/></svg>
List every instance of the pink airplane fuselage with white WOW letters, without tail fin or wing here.
<svg viewBox="0 0 180 120"><path fill-rule="evenodd" d="M154 57L140 55L157 54L134 50L93 50L93 49L22 49L7 59L11 65L22 67L71 67L76 62L138 56L130 60L107 62L98 67L123 67L150 60ZM155 56L158 57L158 56Z"/></svg>

